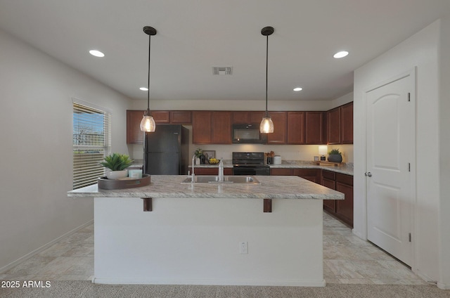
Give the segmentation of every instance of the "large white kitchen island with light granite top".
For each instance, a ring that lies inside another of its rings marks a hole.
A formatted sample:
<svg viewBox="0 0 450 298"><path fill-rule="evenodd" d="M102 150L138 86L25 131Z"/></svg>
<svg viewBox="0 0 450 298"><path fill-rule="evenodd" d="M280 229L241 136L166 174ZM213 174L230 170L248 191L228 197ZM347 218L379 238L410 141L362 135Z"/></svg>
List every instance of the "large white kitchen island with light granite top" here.
<svg viewBox="0 0 450 298"><path fill-rule="evenodd" d="M140 188L68 192L94 197L94 283L324 286L322 200L344 195L297 176L256 177L151 176Z"/></svg>

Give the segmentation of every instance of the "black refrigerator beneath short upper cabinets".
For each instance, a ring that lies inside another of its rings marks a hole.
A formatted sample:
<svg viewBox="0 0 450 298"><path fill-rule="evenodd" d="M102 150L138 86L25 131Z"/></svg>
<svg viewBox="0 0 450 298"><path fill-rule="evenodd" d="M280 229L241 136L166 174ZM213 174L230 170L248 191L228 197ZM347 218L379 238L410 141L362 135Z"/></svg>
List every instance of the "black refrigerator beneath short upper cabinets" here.
<svg viewBox="0 0 450 298"><path fill-rule="evenodd" d="M143 172L150 175L186 175L189 131L181 125L157 125L144 138Z"/></svg>

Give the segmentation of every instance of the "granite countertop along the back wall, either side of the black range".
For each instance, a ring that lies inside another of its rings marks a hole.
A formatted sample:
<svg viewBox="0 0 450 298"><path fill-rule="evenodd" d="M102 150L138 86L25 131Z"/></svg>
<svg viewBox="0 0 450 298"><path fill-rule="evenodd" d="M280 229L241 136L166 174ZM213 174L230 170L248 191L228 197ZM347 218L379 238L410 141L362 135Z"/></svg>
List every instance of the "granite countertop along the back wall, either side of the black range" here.
<svg viewBox="0 0 450 298"><path fill-rule="evenodd" d="M189 165L191 167L191 165ZM195 168L214 168L219 167L218 164L198 164ZM231 160L224 161L224 168L232 168ZM353 176L353 163L342 163L340 167L335 166L321 166L316 162L309 162L304 160L283 160L281 164L269 164L271 169L326 169L340 174ZM258 176L259 177L259 176Z"/></svg>

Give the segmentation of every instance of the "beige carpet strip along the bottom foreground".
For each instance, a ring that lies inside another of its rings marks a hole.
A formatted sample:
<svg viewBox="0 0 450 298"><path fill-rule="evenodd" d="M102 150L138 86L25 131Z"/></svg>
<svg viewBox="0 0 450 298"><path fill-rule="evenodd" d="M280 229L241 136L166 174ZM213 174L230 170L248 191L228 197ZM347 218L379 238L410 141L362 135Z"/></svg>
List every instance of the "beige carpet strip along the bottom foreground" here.
<svg viewBox="0 0 450 298"><path fill-rule="evenodd" d="M160 298L440 298L450 290L435 285L338 285L326 287L252 287L220 285L94 285L89 281L52 281L47 288L0 288L0 297L160 297Z"/></svg>

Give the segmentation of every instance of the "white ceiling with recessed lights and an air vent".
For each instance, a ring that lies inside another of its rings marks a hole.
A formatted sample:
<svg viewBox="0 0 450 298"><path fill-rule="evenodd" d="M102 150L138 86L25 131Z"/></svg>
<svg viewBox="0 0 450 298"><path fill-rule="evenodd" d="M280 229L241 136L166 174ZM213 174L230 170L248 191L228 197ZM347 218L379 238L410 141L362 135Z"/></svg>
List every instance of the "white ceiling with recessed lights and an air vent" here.
<svg viewBox="0 0 450 298"><path fill-rule="evenodd" d="M449 11L450 0L0 0L0 28L146 100L152 26L151 99L264 100L272 26L269 101L332 100L353 90L353 70Z"/></svg>

